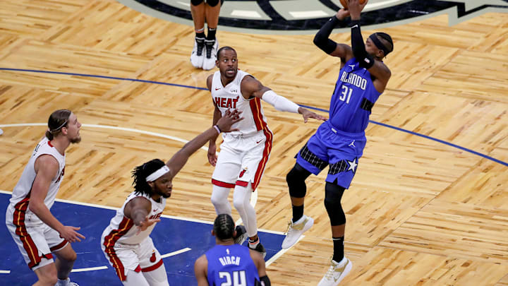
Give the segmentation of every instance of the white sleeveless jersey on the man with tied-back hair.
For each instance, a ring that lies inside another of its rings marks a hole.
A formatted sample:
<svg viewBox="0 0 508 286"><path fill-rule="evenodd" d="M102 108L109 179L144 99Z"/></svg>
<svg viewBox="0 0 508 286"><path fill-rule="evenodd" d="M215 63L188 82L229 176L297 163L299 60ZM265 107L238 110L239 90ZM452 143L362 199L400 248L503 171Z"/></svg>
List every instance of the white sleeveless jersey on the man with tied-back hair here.
<svg viewBox="0 0 508 286"><path fill-rule="evenodd" d="M44 198L44 205L46 205L47 208L51 208L53 206L56 193L58 193L58 190L60 189L60 184L65 172L65 155L61 155L59 151L53 147L51 141L49 141L46 137L44 137L44 139L42 139L42 141L40 141L40 143L35 147L32 157L30 157L28 164L23 170L23 174L21 174L18 184L16 184L13 189L11 203L9 205L10 208L16 208L16 205L19 204L18 208L22 208L20 210L25 211L25 218L30 218L30 225L42 224L42 221L37 218L37 215L32 213L30 208L28 208L28 202L30 201L30 192L32 191L32 185L35 181L35 176L37 175L35 173L35 160L45 154L52 155L59 163L59 172L52 179L46 198Z"/></svg>

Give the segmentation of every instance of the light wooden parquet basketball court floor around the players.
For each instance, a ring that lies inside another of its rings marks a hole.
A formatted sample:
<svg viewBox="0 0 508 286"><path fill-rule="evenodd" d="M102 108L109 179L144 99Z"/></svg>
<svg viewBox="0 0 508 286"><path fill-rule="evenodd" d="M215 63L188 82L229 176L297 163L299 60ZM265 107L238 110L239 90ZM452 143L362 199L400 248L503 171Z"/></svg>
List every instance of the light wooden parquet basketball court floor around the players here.
<svg viewBox="0 0 508 286"><path fill-rule="evenodd" d="M447 16L384 29L395 51L387 90L371 119L508 162L508 17L487 13L448 26ZM365 30L365 35L372 31ZM0 6L0 68L88 73L205 87L212 71L189 61L193 29L112 0L6 1ZM294 102L328 109L339 60L313 35L250 35L219 29L239 66ZM334 35L337 42L349 34ZM253 44L255 43L255 44ZM285 174L317 121L264 105L274 148L256 205L260 228L284 232L291 218ZM59 198L119 207L130 171L169 159L212 122L204 90L109 78L0 71L0 124L44 123L72 109L83 141L67 153ZM4 127L0 189L11 191L44 126ZM342 203L346 256L341 285L508 285L508 167L370 124L358 172ZM174 180L165 214L211 221L213 168L199 150ZM315 225L268 268L273 285L316 285L332 255L325 174L308 179ZM238 215L234 213L235 218Z"/></svg>

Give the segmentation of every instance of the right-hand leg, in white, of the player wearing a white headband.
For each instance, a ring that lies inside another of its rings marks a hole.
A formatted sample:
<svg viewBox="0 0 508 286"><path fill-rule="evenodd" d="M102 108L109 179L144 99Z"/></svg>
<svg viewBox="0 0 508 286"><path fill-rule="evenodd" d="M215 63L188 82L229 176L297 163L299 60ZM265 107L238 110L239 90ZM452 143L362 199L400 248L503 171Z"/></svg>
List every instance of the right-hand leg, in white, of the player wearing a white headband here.
<svg viewBox="0 0 508 286"><path fill-rule="evenodd" d="M166 268L159 251L148 237L140 245L141 273L150 286L169 286Z"/></svg>

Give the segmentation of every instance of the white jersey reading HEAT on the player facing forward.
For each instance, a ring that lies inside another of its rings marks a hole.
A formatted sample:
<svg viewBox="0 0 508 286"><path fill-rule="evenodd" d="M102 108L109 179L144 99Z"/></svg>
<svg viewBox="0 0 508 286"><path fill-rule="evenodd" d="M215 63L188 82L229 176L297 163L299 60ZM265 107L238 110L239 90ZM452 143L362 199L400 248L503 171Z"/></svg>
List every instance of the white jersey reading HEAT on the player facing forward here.
<svg viewBox="0 0 508 286"><path fill-rule="evenodd" d="M245 136L261 130L269 130L261 100L258 97L246 100L241 94L240 85L245 76L250 76L250 74L238 70L234 80L226 86L222 85L220 71L216 71L212 78L212 100L222 115L224 116L227 109L236 108L242 112L241 116L244 119L233 124L231 128L239 130L231 132L232 135L242 134Z"/></svg>

